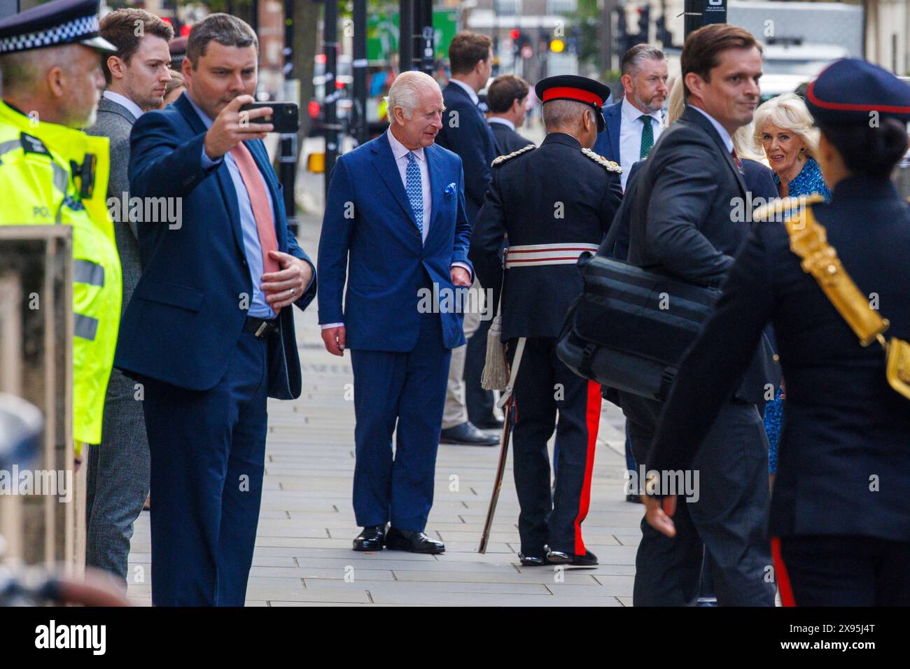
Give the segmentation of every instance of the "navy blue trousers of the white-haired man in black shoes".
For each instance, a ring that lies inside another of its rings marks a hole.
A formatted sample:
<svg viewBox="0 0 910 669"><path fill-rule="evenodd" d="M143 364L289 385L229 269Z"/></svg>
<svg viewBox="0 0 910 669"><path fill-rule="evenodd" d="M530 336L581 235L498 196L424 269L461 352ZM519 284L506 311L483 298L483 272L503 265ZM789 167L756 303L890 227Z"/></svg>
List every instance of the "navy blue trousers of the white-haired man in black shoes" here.
<svg viewBox="0 0 910 669"><path fill-rule="evenodd" d="M421 314L413 350L350 351L357 418L354 514L361 527L389 521L399 530L426 527L450 358L440 315L432 313Z"/></svg>

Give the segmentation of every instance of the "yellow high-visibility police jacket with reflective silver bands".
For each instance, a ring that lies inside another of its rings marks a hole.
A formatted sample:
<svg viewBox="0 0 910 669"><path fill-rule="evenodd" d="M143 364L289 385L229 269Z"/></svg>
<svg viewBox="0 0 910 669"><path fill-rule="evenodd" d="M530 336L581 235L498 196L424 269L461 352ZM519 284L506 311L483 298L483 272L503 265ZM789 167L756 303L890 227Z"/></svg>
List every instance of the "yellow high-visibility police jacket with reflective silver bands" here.
<svg viewBox="0 0 910 669"><path fill-rule="evenodd" d="M0 225L73 228L73 422L101 442L123 283L106 206L107 137L25 116L0 102Z"/></svg>

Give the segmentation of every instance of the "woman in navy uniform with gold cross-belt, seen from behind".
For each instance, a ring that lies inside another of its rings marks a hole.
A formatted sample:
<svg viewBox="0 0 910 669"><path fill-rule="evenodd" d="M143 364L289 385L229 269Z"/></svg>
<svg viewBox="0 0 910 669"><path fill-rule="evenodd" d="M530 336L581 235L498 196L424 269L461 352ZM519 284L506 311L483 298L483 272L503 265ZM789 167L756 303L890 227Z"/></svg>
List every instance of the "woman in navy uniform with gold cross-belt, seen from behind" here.
<svg viewBox="0 0 910 669"><path fill-rule="evenodd" d="M910 209L889 176L907 147L910 86L878 66L842 59L809 85L806 97L822 135L818 161L832 188L830 202L811 206L814 218L862 297L890 320L888 336L908 340ZM768 322L787 380L770 517L782 601L906 606L910 400L886 380L882 349L861 346L802 269L780 222L755 226L713 317L682 362L649 473L690 465ZM647 519L672 536L675 499L659 493L646 498Z"/></svg>

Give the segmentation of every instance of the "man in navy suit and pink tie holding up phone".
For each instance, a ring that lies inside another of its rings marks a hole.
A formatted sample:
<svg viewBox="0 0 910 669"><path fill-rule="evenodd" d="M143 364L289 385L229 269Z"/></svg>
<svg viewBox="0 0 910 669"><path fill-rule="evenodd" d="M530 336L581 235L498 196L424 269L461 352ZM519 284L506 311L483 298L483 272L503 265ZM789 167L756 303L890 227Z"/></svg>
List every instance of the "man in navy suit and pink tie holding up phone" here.
<svg viewBox="0 0 910 669"><path fill-rule="evenodd" d="M144 387L157 605L243 605L266 400L300 394L291 305L313 299L315 269L262 143L270 110L239 110L257 60L249 25L208 15L187 43L187 92L130 137L130 194L181 214L138 222L143 273L116 350Z"/></svg>

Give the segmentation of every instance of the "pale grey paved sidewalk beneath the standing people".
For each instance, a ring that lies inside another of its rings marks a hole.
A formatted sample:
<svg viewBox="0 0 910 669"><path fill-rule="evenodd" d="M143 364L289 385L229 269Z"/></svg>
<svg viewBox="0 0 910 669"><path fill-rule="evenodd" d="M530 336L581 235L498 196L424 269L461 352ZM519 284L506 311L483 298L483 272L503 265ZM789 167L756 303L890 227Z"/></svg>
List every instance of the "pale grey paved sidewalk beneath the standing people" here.
<svg viewBox="0 0 910 669"><path fill-rule="evenodd" d="M298 238L316 257L319 219ZM485 555L477 552L499 448L440 446L427 532L442 555L350 550L359 532L351 508L354 407L349 355L322 346L316 303L297 313L303 394L269 400L265 491L247 603L298 605L632 605L642 507L622 491L622 413L603 403L585 542L591 570L527 568L518 562L518 501L511 457ZM154 504L155 501L152 500ZM151 603L148 512L136 522L129 596Z"/></svg>

